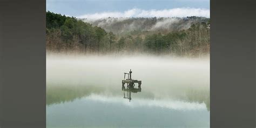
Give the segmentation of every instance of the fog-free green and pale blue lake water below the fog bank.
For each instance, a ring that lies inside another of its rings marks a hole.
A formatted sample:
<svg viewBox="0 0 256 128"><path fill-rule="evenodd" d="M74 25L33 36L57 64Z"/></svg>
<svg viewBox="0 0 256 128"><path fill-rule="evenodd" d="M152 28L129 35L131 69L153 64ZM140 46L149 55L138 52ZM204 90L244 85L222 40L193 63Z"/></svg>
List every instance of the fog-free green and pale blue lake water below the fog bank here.
<svg viewBox="0 0 256 128"><path fill-rule="evenodd" d="M121 85L112 91L95 86L48 86L47 127L209 127L209 94L187 89L179 98L163 99L142 87L142 92L132 93L129 102L123 99ZM182 106L190 104L198 108Z"/></svg>

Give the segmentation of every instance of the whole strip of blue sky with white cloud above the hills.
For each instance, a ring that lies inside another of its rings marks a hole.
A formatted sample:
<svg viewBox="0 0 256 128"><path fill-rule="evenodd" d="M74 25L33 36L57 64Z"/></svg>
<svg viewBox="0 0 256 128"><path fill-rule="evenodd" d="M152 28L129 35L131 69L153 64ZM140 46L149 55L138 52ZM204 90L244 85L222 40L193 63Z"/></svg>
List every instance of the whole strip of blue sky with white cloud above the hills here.
<svg viewBox="0 0 256 128"><path fill-rule="evenodd" d="M78 18L210 17L210 0L46 0L46 10Z"/></svg>

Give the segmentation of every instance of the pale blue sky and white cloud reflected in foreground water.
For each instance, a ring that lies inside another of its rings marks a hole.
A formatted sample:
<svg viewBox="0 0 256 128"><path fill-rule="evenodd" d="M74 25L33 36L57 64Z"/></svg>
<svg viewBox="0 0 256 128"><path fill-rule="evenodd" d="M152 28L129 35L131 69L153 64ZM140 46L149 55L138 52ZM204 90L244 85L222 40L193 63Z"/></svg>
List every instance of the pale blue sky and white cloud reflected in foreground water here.
<svg viewBox="0 0 256 128"><path fill-rule="evenodd" d="M143 92L142 92L143 93ZM133 98L104 93L75 99L46 108L47 127L208 127L204 103L170 99ZM127 122L132 118L132 123ZM118 121L117 121L118 120Z"/></svg>

